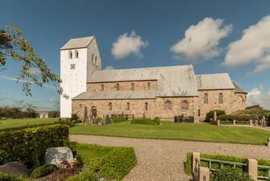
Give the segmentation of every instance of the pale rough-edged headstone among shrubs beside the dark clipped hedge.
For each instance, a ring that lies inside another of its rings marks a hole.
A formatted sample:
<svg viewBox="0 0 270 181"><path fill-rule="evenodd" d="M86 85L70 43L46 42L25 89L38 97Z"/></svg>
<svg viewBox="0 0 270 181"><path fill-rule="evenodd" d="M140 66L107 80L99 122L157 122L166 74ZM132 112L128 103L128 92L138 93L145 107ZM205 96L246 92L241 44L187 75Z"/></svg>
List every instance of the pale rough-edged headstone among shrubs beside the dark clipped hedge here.
<svg viewBox="0 0 270 181"><path fill-rule="evenodd" d="M73 154L68 147L48 148L45 153L45 164L60 165L63 160L74 162Z"/></svg>

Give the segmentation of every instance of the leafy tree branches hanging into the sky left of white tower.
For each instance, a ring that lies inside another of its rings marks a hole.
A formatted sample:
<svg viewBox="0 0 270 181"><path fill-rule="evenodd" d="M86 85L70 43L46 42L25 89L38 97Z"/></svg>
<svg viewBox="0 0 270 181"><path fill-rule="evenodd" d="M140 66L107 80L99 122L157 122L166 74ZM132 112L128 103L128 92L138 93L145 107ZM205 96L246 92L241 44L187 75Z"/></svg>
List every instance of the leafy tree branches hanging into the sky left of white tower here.
<svg viewBox="0 0 270 181"><path fill-rule="evenodd" d="M53 83L58 93L63 94L63 88L58 86L61 82L60 78L50 71L42 58L36 56L22 31L15 26L0 29L0 71L6 68L8 57L22 64L21 73L17 79L23 82L23 92L26 95L32 95L32 84L43 87L47 83ZM41 74L37 76L31 73L31 68L38 68ZM68 95L64 94L63 97L68 98Z"/></svg>

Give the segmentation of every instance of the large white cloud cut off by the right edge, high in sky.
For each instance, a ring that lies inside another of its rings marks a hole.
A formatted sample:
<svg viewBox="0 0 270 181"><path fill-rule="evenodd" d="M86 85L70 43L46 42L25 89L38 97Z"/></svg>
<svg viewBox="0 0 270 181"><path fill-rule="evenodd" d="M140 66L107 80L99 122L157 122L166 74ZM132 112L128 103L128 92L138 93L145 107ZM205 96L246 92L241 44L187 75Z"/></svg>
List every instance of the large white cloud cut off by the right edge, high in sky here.
<svg viewBox="0 0 270 181"><path fill-rule="evenodd" d="M252 73L270 68L270 15L243 31L242 38L229 43L225 66L245 66L256 63Z"/></svg>

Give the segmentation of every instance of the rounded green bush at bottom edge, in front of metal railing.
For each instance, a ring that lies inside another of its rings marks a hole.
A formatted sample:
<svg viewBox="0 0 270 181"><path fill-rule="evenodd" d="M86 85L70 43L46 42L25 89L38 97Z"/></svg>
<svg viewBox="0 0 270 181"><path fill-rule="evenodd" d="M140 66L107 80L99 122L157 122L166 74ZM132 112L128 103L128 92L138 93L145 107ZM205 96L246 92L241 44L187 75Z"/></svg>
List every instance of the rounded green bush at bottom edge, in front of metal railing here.
<svg viewBox="0 0 270 181"><path fill-rule="evenodd" d="M211 177L211 181L226 181L226 180L234 180L234 181L254 181L247 173L239 172L234 169L224 169L219 170L217 172L213 172Z"/></svg>

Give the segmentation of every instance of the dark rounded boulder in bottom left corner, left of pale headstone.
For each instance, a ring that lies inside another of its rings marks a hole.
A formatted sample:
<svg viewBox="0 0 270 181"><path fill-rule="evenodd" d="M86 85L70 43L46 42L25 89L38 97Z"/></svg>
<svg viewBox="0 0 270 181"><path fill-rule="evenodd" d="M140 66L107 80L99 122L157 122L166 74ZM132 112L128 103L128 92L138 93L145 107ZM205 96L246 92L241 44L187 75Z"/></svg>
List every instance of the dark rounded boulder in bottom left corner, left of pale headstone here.
<svg viewBox="0 0 270 181"><path fill-rule="evenodd" d="M5 172L12 175L17 175L21 177L28 177L30 171L21 162L7 162L4 165L0 165L0 172Z"/></svg>

